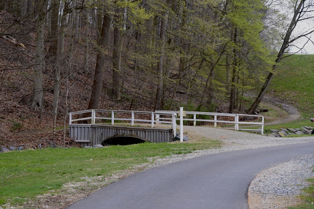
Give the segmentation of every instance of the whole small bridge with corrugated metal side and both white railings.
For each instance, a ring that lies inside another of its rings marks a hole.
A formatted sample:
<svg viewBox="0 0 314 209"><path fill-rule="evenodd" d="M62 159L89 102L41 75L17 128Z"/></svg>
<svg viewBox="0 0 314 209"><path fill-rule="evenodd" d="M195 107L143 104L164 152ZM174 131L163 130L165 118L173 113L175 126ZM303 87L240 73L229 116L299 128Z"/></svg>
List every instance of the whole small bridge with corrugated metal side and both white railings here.
<svg viewBox="0 0 314 209"><path fill-rule="evenodd" d="M120 111L120 110L85 110L70 112L69 115L69 136L81 147L102 145L126 145L141 142L172 142L176 135L176 121L180 120L180 141L183 138L183 121L193 122L196 126L200 122L211 122L214 127L217 123L234 124L235 130L259 132L263 134L264 117L257 115L229 114L216 112L191 112L183 111ZM89 117L84 117L89 115ZM192 115L192 117L187 117ZM207 116L202 119L202 116ZM179 116L179 118L177 118ZM242 117L242 119L240 119ZM252 118L259 118L259 122L251 122ZM200 119L201 118L201 119ZM221 119L221 118L228 118ZM230 119L230 118L233 118ZM249 121L243 121L247 118ZM115 126L116 123L126 121L126 126ZM82 123L84 122L84 123ZM111 124L111 125L108 125ZM141 126L139 126L139 123ZM169 128L156 128L155 124L168 124ZM260 129L240 128L239 124L261 125ZM147 127L143 127L147 126ZM137 126L137 127L135 127ZM228 128L228 127L226 127Z"/></svg>

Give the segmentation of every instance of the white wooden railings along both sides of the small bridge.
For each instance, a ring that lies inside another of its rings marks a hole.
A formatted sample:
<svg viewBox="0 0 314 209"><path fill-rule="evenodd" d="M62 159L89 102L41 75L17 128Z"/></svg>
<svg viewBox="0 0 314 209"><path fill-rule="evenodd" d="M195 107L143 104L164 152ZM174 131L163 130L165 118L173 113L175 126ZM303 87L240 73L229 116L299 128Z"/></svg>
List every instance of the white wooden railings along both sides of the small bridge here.
<svg viewBox="0 0 314 209"><path fill-rule="evenodd" d="M131 126L134 125L135 122L140 123L149 123L151 127L154 128L154 124L157 123L165 123L171 124L172 129L176 130L176 120L180 120L180 132L183 129L182 121L193 121L193 125L196 126L196 123L199 122L212 122L214 123L214 127L217 127L217 123L231 123L234 124L235 130L242 130L242 131L251 131L251 132L258 132L262 135L264 134L264 116L260 115L245 115L245 114L230 114L230 113L218 113L218 112L193 112L193 111L186 111L186 116L183 117L183 114L180 115L180 118L177 118L179 112L183 110L180 107L180 111L155 111L155 112L145 112L145 111L122 111L122 110L84 110L78 112L70 112L69 114L69 124L75 121L83 121L83 120L91 120L91 124L95 124L96 119L102 120L110 120L111 125L114 125L115 121L131 121ZM90 117L81 118L81 115L84 113L90 113ZM110 117L101 116L101 113L109 113ZM123 117L119 117L119 113L124 113ZM183 111L182 111L183 113ZM78 115L76 119L73 119L74 115ZM146 115L143 118L150 118L150 119L139 119L140 115ZM188 117L188 115L192 115L192 117ZM207 115L213 116L214 119L197 119L198 115ZM138 116L138 117L136 117ZM149 117L148 117L149 116ZM219 120L217 117L219 116L227 116L233 118L233 120ZM251 122L251 121L239 121L239 118L257 118L261 122ZM257 125L261 126L260 129L248 129L248 128L240 128L240 124L246 125ZM182 134L180 134L182 135Z"/></svg>

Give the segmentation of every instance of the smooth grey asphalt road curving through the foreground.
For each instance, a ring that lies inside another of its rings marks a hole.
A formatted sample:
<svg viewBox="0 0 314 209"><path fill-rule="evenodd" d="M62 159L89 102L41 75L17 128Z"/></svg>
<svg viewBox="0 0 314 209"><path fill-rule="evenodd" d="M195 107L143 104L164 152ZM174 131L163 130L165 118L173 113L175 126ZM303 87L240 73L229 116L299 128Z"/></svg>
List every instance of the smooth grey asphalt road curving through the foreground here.
<svg viewBox="0 0 314 209"><path fill-rule="evenodd" d="M187 159L107 185L68 209L245 209L249 184L259 172L306 154L314 154L313 142Z"/></svg>

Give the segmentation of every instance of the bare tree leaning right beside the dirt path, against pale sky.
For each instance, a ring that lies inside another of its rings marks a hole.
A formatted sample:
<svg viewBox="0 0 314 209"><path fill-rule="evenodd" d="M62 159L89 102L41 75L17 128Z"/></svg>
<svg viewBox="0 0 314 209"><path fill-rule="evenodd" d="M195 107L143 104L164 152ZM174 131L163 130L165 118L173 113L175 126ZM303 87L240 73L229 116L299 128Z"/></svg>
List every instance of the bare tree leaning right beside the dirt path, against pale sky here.
<svg viewBox="0 0 314 209"><path fill-rule="evenodd" d="M248 114L252 114L253 112L255 112L255 109L258 107L258 105L262 101L262 99L265 95L265 92L266 92L270 82L272 81L273 75L274 75L274 73L278 67L278 64L279 64L280 60L283 58L284 53L287 50L287 48L289 47L289 45L292 44L297 39L300 39L301 37L306 37L307 35L314 32L314 30L306 31L306 32L303 32L301 35L298 35L296 37L291 38L292 32L294 31L294 29L298 23L300 23L301 21L313 18L313 16L306 16L307 13L310 13L311 10L313 10L313 7L314 7L314 3L312 3L311 1L305 1L305 0L295 1L293 17L290 21L290 24L286 30L285 35L284 35L283 43L282 43L281 48L277 54L275 63L272 66L272 71L269 72L261 91L259 92L259 94L258 94L257 98L255 99L254 103L252 104L251 108L247 112Z"/></svg>

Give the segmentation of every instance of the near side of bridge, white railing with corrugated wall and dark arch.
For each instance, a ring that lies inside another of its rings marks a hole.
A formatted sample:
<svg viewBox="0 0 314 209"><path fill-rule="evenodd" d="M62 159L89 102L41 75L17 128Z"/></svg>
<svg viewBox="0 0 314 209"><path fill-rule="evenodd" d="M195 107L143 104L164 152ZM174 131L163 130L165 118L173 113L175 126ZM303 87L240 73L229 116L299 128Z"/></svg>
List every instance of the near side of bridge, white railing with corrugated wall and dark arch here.
<svg viewBox="0 0 314 209"><path fill-rule="evenodd" d="M88 113L90 117L81 118ZM77 116L76 118L73 118ZM126 145L141 142L172 142L176 130L176 113L164 113L163 117L154 112L117 111L117 110L86 110L69 113L69 136L81 147L102 145ZM150 119L145 119L150 118ZM73 123L73 122L86 122ZM100 123L96 123L96 121ZM117 121L128 121L130 126L115 126ZM101 123L103 122L103 124ZM111 125L104 123L109 122ZM134 127L136 122L149 127ZM154 124L171 124L170 128L154 128Z"/></svg>

